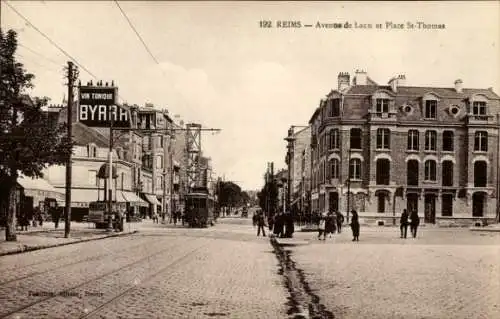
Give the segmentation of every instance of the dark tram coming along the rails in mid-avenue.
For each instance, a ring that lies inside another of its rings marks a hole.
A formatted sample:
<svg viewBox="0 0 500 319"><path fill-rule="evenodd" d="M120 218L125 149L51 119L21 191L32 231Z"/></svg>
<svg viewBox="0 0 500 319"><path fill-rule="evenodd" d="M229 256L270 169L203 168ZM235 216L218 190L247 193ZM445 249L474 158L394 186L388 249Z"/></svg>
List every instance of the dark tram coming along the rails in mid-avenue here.
<svg viewBox="0 0 500 319"><path fill-rule="evenodd" d="M189 227L214 225L214 197L206 187L193 188L185 196L185 218Z"/></svg>

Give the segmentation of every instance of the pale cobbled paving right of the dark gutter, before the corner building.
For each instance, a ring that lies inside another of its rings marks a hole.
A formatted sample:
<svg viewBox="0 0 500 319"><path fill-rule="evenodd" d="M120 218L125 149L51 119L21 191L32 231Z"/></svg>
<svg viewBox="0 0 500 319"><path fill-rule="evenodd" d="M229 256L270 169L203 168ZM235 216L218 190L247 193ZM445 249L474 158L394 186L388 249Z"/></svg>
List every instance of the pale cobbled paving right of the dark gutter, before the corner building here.
<svg viewBox="0 0 500 319"><path fill-rule="evenodd" d="M291 253L309 287L335 318L500 318L500 234L396 228L349 229Z"/></svg>

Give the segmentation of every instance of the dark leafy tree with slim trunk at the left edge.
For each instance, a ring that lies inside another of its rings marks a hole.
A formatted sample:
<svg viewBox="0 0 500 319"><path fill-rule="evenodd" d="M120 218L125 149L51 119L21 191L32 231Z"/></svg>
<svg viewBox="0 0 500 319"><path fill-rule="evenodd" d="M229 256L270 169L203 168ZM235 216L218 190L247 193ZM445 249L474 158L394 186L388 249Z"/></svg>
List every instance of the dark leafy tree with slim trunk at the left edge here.
<svg viewBox="0 0 500 319"><path fill-rule="evenodd" d="M49 165L66 163L72 141L63 124L49 123L42 107L47 98L31 98L34 75L16 61L17 34L0 29L0 212L5 238L16 241L16 185L19 173L43 177Z"/></svg>

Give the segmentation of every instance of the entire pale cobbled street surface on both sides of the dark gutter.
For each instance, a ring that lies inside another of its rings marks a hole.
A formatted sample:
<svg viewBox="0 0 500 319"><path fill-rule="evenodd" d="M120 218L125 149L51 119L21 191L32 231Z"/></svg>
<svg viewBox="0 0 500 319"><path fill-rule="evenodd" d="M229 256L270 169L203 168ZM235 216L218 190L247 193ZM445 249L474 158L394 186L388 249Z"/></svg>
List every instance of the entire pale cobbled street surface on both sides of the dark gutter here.
<svg viewBox="0 0 500 319"><path fill-rule="evenodd" d="M500 315L500 233L422 229L404 240L365 227L357 243L346 229L324 242L296 232L296 246L273 248L255 231L251 213L207 229L145 221L131 236L0 257L0 317L302 318L293 313L307 300L285 284L276 249L335 318Z"/></svg>

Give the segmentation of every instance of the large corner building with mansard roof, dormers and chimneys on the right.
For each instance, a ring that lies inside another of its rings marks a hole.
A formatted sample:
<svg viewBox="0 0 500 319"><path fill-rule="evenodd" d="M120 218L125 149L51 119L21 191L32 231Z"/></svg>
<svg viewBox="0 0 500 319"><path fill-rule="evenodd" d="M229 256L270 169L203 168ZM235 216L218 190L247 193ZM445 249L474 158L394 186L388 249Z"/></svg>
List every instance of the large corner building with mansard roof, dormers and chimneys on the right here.
<svg viewBox="0 0 500 319"><path fill-rule="evenodd" d="M403 208L426 223L495 219L500 97L492 89L378 85L338 75L312 126L313 210L390 218Z"/></svg>

